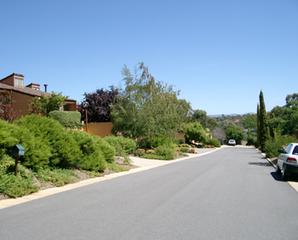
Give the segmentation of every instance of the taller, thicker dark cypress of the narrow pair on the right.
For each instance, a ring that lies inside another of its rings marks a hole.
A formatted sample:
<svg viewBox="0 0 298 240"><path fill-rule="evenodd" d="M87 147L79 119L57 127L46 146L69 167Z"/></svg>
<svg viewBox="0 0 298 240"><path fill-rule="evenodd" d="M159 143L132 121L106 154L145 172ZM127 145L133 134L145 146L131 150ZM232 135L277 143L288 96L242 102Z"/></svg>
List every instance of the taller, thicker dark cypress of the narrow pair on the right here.
<svg viewBox="0 0 298 240"><path fill-rule="evenodd" d="M265 150L265 143L268 139L268 122L267 122L267 112L265 107L264 95L263 92L260 91L259 95L259 104L260 104L260 114L259 114L259 124L260 124L260 148L261 151Z"/></svg>

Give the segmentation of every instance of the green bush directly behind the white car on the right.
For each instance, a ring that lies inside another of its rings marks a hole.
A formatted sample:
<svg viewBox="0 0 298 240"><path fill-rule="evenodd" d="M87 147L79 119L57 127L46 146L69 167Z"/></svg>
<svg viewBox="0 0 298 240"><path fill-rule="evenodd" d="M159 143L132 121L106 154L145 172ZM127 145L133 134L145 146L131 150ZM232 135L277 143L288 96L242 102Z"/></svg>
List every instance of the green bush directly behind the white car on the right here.
<svg viewBox="0 0 298 240"><path fill-rule="evenodd" d="M279 155L278 150L291 142L297 142L297 139L293 136L276 136L274 139L267 140L264 149L266 156L269 158L277 157Z"/></svg>

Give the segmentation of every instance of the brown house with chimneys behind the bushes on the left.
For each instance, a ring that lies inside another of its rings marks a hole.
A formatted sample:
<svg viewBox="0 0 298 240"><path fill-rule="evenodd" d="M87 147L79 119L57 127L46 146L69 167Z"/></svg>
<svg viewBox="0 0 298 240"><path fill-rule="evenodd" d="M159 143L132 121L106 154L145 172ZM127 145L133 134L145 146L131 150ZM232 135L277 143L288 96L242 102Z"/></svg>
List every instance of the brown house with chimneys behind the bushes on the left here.
<svg viewBox="0 0 298 240"><path fill-rule="evenodd" d="M47 85L44 91L37 83L25 85L24 75L12 73L0 80L0 116L13 120L31 112L33 98L43 95L50 95L47 92ZM64 110L76 111L76 101L66 99Z"/></svg>

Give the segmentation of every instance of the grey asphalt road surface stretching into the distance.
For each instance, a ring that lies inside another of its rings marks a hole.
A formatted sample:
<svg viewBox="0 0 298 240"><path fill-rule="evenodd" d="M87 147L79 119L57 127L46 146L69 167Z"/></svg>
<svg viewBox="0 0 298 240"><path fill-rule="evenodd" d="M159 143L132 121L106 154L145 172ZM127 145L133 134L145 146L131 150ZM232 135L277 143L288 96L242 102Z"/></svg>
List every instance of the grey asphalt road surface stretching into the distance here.
<svg viewBox="0 0 298 240"><path fill-rule="evenodd" d="M1 240L298 239L298 193L224 148L0 210Z"/></svg>

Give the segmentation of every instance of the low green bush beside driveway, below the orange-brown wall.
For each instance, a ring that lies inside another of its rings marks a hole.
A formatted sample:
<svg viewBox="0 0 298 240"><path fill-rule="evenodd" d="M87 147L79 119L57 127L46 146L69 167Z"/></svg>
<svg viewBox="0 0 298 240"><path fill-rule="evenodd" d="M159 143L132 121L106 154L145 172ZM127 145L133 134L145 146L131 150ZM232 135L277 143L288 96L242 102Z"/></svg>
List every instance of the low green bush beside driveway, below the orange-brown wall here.
<svg viewBox="0 0 298 240"><path fill-rule="evenodd" d="M126 156L136 150L136 142L130 138L107 136L104 140L115 148L118 156Z"/></svg>

